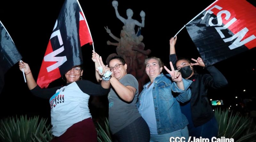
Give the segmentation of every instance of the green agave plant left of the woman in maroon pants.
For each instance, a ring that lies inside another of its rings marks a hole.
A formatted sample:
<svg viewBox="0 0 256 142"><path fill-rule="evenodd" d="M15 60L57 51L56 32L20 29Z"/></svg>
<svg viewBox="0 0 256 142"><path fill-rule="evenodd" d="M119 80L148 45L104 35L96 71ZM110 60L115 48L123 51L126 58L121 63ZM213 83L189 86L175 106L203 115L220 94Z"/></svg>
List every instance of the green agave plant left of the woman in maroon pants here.
<svg viewBox="0 0 256 142"><path fill-rule="evenodd" d="M48 142L53 136L50 124L46 126L47 119L39 116L28 118L9 117L0 121L0 139L4 142Z"/></svg>

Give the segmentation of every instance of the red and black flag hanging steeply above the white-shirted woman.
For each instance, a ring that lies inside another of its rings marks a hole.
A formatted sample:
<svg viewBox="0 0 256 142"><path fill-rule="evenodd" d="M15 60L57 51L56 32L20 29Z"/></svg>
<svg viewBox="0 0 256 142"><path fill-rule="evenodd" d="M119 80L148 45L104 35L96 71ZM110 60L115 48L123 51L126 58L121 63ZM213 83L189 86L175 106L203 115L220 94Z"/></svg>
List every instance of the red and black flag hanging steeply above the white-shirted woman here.
<svg viewBox="0 0 256 142"><path fill-rule="evenodd" d="M91 33L77 0L66 0L54 25L37 84L41 88L83 64L81 46L92 43Z"/></svg>

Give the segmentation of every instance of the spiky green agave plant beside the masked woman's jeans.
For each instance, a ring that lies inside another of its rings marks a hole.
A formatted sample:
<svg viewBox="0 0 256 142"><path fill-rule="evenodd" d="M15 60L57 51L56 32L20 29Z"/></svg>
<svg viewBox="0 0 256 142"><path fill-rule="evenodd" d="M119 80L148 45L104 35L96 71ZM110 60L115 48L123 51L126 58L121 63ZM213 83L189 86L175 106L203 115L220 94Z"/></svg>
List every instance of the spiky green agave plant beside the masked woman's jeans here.
<svg viewBox="0 0 256 142"><path fill-rule="evenodd" d="M248 117L228 115L228 109L221 111L215 109L215 117L219 123L218 138L234 138L235 142L256 142L256 126Z"/></svg>

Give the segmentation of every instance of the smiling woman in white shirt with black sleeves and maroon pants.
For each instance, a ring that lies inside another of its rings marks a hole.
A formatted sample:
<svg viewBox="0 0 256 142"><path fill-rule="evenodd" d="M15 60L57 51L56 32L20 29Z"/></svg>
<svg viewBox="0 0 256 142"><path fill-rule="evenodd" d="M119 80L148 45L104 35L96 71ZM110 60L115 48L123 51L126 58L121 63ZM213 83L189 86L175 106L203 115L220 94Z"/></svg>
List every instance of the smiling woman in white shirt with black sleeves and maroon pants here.
<svg viewBox="0 0 256 142"><path fill-rule="evenodd" d="M32 76L27 63L19 62L20 71L24 70L29 90L40 98L50 99L52 134L51 142L90 141L97 142L97 132L88 108L90 95L104 95L109 92L110 81L103 80L101 85L82 80L83 69L80 65L65 73L66 86L41 89ZM104 67L103 73L109 70Z"/></svg>

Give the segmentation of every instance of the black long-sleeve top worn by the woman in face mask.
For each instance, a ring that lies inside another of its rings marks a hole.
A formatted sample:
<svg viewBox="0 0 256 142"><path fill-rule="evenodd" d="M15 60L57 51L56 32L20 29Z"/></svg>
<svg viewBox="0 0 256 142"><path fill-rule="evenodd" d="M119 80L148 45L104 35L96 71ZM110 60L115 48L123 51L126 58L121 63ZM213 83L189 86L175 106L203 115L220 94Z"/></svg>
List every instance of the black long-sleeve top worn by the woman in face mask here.
<svg viewBox="0 0 256 142"><path fill-rule="evenodd" d="M176 54L171 54L169 59L176 68ZM212 107L207 98L208 88L217 89L228 84L227 79L214 66L205 68L210 74L195 73L192 77L188 78L193 81L189 88L191 90L191 115L195 127L208 122L214 116Z"/></svg>

